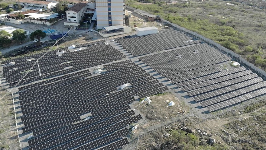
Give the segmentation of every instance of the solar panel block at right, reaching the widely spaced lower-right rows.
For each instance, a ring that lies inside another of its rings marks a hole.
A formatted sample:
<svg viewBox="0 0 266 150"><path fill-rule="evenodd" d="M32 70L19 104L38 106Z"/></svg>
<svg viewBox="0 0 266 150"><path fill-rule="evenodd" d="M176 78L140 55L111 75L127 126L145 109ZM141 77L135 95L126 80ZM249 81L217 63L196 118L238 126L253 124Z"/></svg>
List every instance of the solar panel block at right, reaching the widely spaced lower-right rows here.
<svg viewBox="0 0 266 150"><path fill-rule="evenodd" d="M207 106L209 111L265 94L266 82L262 78L245 67L223 70L218 64L231 58L206 44L139 59L189 96L194 96L194 100L200 102L202 107Z"/></svg>

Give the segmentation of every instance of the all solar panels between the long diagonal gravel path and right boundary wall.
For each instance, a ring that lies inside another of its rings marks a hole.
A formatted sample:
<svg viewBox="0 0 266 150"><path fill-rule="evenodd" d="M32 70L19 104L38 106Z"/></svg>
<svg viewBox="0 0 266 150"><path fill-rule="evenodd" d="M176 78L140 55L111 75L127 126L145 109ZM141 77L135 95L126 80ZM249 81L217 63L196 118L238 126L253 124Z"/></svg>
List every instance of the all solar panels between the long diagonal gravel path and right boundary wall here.
<svg viewBox="0 0 266 150"><path fill-rule="evenodd" d="M251 95L264 94L263 90L256 92L265 87L262 78L245 67L224 70L219 64L229 61L230 57L184 33L169 29L117 41L134 56L159 51L139 57L139 60L193 96L202 107L208 106L209 111L235 104L234 98L245 93L254 94L248 94L243 101L252 98ZM187 46L179 47L184 45ZM161 51L165 49L170 50Z"/></svg>

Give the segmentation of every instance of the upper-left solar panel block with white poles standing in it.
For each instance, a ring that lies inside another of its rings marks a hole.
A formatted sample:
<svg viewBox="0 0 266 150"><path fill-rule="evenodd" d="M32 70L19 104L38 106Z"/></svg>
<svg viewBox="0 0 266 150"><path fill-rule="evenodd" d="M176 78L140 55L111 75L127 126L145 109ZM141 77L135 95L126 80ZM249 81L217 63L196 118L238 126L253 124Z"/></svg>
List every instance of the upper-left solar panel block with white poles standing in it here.
<svg viewBox="0 0 266 150"><path fill-rule="evenodd" d="M88 44L80 46L86 45ZM28 56L34 58L31 61L27 61L28 57L14 59L14 65L3 67L3 77L8 81L9 86L14 86L24 76L24 79L19 84L75 72L76 70L86 69L126 57L112 46L105 45L104 43L93 44L87 46L86 49L77 51L65 50L65 53L61 54L62 56L57 56L56 52L50 51L39 59L37 63L37 59L41 57L40 55L37 56L37 54L36 56ZM25 75L27 72L28 74Z"/></svg>

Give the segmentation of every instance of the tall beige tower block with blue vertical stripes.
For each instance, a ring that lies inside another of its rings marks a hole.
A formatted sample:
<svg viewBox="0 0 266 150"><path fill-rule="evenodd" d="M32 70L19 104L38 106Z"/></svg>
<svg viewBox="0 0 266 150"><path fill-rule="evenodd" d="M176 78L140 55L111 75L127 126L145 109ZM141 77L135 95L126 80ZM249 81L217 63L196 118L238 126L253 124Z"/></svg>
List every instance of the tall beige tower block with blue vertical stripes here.
<svg viewBox="0 0 266 150"><path fill-rule="evenodd" d="M97 28L125 24L125 0L96 0Z"/></svg>

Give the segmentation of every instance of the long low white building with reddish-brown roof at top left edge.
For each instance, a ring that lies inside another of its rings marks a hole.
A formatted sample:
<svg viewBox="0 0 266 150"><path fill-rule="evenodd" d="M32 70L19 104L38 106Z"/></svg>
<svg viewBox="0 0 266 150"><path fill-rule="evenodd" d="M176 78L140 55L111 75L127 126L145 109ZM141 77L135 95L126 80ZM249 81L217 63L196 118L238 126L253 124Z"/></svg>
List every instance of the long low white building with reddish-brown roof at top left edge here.
<svg viewBox="0 0 266 150"><path fill-rule="evenodd" d="M20 5L29 7L41 7L44 9L50 9L55 7L56 3L46 1L33 1L33 0L19 0Z"/></svg>

